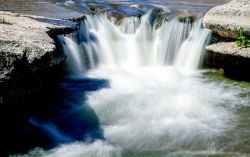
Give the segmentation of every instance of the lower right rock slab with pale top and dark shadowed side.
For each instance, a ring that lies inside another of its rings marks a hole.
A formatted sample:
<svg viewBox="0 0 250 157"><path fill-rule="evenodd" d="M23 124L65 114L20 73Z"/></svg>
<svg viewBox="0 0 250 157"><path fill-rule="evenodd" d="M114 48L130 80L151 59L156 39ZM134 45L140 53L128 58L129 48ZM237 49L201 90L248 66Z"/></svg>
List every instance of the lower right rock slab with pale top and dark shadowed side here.
<svg viewBox="0 0 250 157"><path fill-rule="evenodd" d="M205 64L222 68L225 75L250 81L250 48L240 48L234 42L220 42L207 46Z"/></svg>

